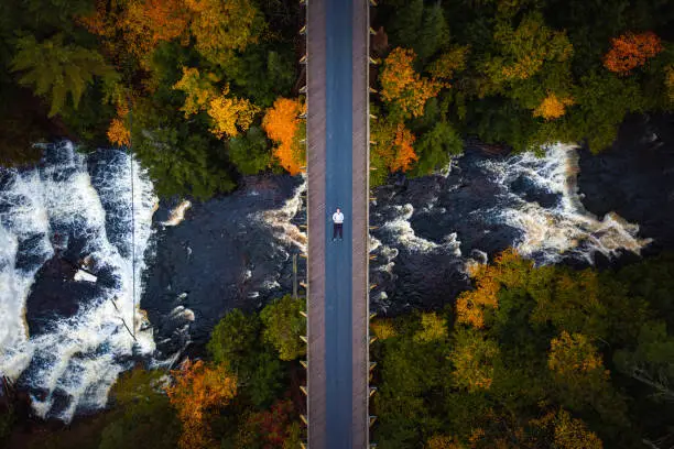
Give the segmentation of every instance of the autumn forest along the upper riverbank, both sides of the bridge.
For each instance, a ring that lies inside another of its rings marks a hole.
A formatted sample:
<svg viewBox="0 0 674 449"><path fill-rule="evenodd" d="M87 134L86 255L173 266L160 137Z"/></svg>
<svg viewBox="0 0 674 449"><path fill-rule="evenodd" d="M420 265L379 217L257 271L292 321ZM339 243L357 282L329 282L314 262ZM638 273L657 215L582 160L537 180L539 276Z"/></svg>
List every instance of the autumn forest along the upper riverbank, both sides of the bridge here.
<svg viewBox="0 0 674 449"><path fill-rule="evenodd" d="M289 0L29 0L0 6L0 163L41 140L128 147L157 194L207 199L304 165L304 8ZM372 186L511 151L610 147L674 105L666 0L388 0L373 9Z"/></svg>

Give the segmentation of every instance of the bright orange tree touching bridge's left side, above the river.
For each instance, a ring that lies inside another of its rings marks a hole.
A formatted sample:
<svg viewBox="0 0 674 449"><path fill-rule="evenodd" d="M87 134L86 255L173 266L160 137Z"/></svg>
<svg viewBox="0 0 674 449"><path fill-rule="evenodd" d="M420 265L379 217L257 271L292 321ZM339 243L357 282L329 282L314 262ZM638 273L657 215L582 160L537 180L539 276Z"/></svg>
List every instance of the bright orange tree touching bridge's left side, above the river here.
<svg viewBox="0 0 674 449"><path fill-rule="evenodd" d="M279 98L262 119L264 132L278 143L274 156L291 175L296 175L304 166L305 152L300 143L304 123L298 118L302 108L297 99Z"/></svg>

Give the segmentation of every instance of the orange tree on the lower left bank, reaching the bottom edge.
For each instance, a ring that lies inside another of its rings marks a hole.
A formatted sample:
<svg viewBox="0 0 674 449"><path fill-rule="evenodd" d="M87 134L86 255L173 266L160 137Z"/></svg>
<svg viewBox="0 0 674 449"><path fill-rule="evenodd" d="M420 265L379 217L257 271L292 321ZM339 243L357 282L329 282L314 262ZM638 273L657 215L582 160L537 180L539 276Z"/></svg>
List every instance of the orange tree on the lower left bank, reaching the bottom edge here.
<svg viewBox="0 0 674 449"><path fill-rule="evenodd" d="M237 394L237 380L222 365L210 368L187 359L181 370L172 371L175 384L166 388L171 404L183 424L178 446L199 449L211 445L209 413L226 405Z"/></svg>

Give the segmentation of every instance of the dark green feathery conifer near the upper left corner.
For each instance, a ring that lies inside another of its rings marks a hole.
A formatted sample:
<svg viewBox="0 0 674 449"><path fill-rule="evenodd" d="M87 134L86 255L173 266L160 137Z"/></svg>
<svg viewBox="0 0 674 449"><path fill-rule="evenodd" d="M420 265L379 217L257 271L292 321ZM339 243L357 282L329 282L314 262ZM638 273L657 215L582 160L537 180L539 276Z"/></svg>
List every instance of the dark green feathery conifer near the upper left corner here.
<svg viewBox="0 0 674 449"><path fill-rule="evenodd" d="M33 35L20 39L12 70L23 72L19 83L51 99L50 117L59 113L69 94L75 108L94 77L115 77L115 70L93 50L64 44L64 35L37 42Z"/></svg>

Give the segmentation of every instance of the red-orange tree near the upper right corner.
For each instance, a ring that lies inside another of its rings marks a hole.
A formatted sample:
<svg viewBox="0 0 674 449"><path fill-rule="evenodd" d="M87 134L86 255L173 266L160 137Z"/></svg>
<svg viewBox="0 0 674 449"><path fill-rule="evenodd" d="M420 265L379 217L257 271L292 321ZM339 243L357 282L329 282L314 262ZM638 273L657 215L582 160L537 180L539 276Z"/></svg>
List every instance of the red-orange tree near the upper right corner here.
<svg viewBox="0 0 674 449"><path fill-rule="evenodd" d="M626 33L611 39L611 48L604 56L604 66L618 75L630 72L663 51L662 42L655 33Z"/></svg>

